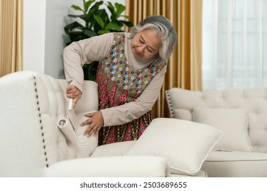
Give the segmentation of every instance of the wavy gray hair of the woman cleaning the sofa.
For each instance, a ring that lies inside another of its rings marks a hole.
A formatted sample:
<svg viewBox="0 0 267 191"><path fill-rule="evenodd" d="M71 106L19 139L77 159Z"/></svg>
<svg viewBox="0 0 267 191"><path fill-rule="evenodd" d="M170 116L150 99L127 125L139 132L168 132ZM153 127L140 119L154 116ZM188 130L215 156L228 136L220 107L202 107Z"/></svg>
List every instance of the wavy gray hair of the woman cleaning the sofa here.
<svg viewBox="0 0 267 191"><path fill-rule="evenodd" d="M160 46L159 54L155 57L155 59L157 59L157 63L155 63L155 65L166 63L170 58L170 55L173 53L177 42L177 33L175 28L172 23L170 23L170 20L164 16L149 16L130 29L129 38L133 38L136 33L147 29L155 31L162 39L162 46Z"/></svg>

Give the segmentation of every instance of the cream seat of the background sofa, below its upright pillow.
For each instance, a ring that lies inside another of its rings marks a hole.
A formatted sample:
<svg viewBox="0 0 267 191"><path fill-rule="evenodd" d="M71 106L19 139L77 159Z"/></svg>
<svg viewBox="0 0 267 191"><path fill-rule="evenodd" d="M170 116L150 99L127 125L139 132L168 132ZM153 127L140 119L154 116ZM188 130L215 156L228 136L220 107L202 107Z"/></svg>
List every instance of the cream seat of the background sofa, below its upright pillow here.
<svg viewBox="0 0 267 191"><path fill-rule="evenodd" d="M267 177L267 153L211 151L201 170L208 177Z"/></svg>

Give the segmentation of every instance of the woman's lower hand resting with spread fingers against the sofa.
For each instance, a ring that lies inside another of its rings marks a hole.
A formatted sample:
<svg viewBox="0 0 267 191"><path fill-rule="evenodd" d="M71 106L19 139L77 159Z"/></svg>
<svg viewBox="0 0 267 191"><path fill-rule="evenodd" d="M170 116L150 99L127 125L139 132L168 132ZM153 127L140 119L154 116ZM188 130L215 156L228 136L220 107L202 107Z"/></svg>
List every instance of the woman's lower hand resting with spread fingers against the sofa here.
<svg viewBox="0 0 267 191"><path fill-rule="evenodd" d="M91 136L93 133L95 136L99 134L99 130L104 125L104 119L102 116L101 111L96 111L94 113L88 113L84 115L86 117L90 117L86 121L81 123L81 126L89 125L88 128L85 130L84 135Z"/></svg>

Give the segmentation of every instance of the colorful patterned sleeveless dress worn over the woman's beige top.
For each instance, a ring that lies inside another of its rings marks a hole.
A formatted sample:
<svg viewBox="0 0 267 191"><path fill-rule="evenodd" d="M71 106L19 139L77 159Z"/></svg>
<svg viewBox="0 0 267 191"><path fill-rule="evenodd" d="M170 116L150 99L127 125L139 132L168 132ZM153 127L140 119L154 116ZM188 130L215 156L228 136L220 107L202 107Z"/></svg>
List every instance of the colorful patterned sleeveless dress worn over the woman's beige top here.
<svg viewBox="0 0 267 191"><path fill-rule="evenodd" d="M148 65L135 70L125 57L125 33L114 33L112 47L97 68L99 85L99 110L120 106L138 98L157 72L165 65ZM151 111L119 126L102 127L99 145L137 140L151 123Z"/></svg>

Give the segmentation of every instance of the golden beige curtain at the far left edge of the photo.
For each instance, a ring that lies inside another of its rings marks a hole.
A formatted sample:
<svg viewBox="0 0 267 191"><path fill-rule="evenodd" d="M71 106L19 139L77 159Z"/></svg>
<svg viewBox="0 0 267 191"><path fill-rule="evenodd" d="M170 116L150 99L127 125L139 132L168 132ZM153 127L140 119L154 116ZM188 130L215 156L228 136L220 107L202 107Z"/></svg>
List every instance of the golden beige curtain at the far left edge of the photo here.
<svg viewBox="0 0 267 191"><path fill-rule="evenodd" d="M23 0L0 0L0 77L23 70Z"/></svg>

